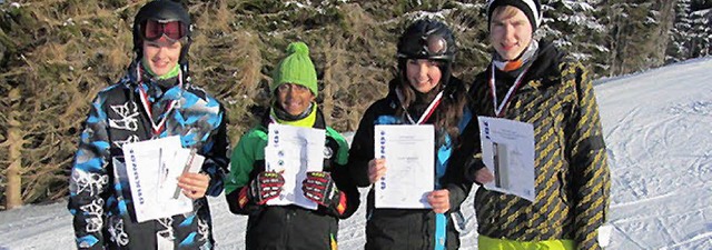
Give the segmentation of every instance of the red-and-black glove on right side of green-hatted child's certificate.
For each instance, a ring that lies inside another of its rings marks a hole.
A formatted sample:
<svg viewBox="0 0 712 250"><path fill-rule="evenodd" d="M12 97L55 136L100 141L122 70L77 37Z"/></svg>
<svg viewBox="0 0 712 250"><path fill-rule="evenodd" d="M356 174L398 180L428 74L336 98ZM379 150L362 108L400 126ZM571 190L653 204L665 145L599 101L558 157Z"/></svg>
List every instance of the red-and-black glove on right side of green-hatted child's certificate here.
<svg viewBox="0 0 712 250"><path fill-rule="evenodd" d="M307 172L307 179L301 181L304 197L324 207L340 198L340 192L328 172Z"/></svg>

